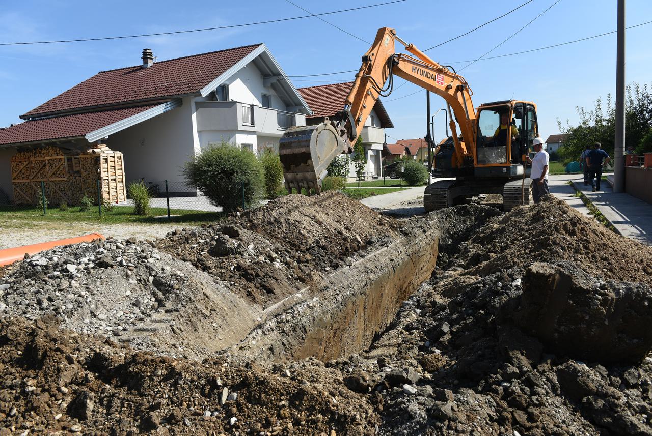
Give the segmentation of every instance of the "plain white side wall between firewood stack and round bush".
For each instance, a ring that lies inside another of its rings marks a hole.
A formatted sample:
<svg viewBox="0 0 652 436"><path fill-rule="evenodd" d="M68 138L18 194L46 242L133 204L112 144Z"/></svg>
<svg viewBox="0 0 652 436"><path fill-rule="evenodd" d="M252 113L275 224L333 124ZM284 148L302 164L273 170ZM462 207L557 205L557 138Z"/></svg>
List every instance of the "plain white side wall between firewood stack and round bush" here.
<svg viewBox="0 0 652 436"><path fill-rule="evenodd" d="M106 141L111 149L123 152L128 181L183 181L181 167L195 153L194 105L183 105L118 133Z"/></svg>

